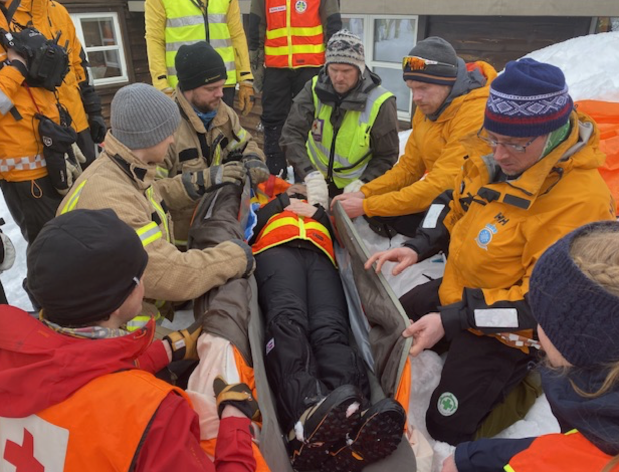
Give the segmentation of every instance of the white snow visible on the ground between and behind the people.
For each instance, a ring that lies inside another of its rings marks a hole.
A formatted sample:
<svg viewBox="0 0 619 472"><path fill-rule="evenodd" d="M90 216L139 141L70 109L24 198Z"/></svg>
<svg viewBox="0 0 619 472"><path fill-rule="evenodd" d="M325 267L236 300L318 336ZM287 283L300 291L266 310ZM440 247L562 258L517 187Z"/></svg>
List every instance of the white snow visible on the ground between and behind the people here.
<svg viewBox="0 0 619 472"><path fill-rule="evenodd" d="M582 36L565 41L558 45L549 46L529 54L530 57L543 62L550 62L561 67L565 72L574 100L605 100L619 102L619 32L600 33L599 35ZM404 144L410 131L400 133L400 153L404 150ZM25 310L31 310L32 306L27 295L22 290L22 280L26 274L26 244L21 236L19 228L12 221L4 199L0 199L0 217L6 220L2 231L8 234L15 244L17 259L14 267L0 275L0 280L9 299L9 303ZM387 247L399 246L402 237L391 241L379 238L368 228L365 222L355 223L357 230L365 239L370 252L386 249ZM443 261L440 257L431 258L417 267L407 269L397 278L391 276L391 266L386 265L383 270L387 280L391 283L394 291L399 296L416 285L422 273L428 275L440 275L443 270ZM426 280L423 278L423 280ZM180 319L175 320L174 327L181 327L183 323L189 324L190 315L184 313ZM419 431L427 436L425 431L425 411L428 408L432 390L438 384L438 378L442 368L439 356L431 351L420 354L413 359L413 385L412 401L410 405L410 418ZM558 431L558 424L550 412L545 397L540 397L526 418L503 431L500 437L526 437ZM429 438L429 437L428 437ZM430 439L435 450L433 471L441 470L441 463L452 452L452 447L444 443L434 443Z"/></svg>

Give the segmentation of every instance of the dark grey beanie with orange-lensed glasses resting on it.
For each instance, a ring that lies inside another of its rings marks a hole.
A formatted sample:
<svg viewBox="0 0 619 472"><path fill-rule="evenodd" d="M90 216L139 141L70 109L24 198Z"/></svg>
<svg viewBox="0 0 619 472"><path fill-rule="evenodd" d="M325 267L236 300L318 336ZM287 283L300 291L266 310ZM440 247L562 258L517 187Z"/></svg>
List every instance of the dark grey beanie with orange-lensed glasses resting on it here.
<svg viewBox="0 0 619 472"><path fill-rule="evenodd" d="M425 59L415 61L412 58ZM409 59L407 61L407 59ZM402 63L404 80L416 80L427 84L454 85L458 75L456 49L438 36L430 36L410 49Z"/></svg>

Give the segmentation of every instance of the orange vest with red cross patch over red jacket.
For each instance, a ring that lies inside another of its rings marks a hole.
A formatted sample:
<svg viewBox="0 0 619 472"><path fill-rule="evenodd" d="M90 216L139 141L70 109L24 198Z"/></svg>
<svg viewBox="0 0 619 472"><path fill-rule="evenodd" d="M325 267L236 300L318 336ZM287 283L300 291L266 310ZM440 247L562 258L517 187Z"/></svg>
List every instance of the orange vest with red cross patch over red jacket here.
<svg viewBox="0 0 619 472"><path fill-rule="evenodd" d="M147 372L102 375L38 414L0 419L5 439L0 450L5 460L33 471L129 470L144 431L170 392L191 405L183 390ZM33 451L36 458L28 455Z"/></svg>

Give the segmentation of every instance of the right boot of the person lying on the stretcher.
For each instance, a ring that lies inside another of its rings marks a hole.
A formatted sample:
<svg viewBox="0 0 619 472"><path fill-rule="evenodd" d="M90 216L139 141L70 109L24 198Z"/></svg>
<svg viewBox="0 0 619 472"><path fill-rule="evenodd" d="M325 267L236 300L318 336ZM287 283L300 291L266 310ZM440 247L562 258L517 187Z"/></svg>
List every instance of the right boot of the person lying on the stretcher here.
<svg viewBox="0 0 619 472"><path fill-rule="evenodd" d="M321 472L360 472L366 465L391 455L397 449L406 423L406 412L392 398L372 405L361 414L357 428L350 432Z"/></svg>

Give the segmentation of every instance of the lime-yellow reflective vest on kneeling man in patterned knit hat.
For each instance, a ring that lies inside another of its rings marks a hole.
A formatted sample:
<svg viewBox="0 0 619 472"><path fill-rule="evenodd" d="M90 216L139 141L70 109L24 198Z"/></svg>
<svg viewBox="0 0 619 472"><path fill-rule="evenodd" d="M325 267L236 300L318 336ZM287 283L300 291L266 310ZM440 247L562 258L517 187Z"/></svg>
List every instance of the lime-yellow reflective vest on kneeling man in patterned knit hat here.
<svg viewBox="0 0 619 472"><path fill-rule="evenodd" d="M308 133L306 147L309 159L314 166L327 176L331 144L334 139L333 127L331 126L333 108L318 100L315 90L317 81L318 76L312 79L314 122ZM332 181L337 188L343 189L363 174L372 158L370 131L381 105L389 97L393 97L393 94L378 86L368 93L363 111L346 111L342 126L335 137L332 162Z"/></svg>

